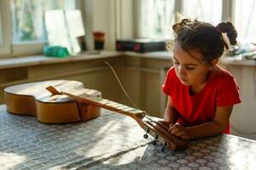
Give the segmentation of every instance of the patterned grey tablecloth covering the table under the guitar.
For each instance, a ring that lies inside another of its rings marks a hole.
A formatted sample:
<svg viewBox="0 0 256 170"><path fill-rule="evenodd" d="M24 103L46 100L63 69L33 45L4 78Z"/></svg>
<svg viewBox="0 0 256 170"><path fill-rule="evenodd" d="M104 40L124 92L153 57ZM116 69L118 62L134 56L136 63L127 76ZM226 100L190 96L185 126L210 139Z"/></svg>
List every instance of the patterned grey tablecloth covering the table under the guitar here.
<svg viewBox="0 0 256 170"><path fill-rule="evenodd" d="M0 169L255 169L256 141L219 135L161 150L128 116L102 110L85 123L49 125L0 106Z"/></svg>

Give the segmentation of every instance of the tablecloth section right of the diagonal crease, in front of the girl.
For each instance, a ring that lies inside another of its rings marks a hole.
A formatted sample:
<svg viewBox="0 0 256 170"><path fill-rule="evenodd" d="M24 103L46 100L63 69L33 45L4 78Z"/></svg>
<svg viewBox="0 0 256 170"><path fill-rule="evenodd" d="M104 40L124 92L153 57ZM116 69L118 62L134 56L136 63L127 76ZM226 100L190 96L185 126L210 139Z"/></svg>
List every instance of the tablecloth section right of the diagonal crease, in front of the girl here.
<svg viewBox="0 0 256 170"><path fill-rule="evenodd" d="M160 144L145 145L108 160L96 161L77 169L254 169L255 142L244 143L231 135L198 139L187 150L161 150ZM253 152L253 155L251 153ZM240 160L240 161L239 161ZM254 160L254 161L253 161Z"/></svg>

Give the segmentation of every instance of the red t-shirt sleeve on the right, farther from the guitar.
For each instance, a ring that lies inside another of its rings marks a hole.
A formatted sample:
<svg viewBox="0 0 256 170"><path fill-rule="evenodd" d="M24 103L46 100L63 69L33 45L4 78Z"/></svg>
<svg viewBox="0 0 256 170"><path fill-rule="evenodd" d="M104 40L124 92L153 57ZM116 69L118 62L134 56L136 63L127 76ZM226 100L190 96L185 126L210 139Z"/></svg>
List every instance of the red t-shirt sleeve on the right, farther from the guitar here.
<svg viewBox="0 0 256 170"><path fill-rule="evenodd" d="M239 87L234 77L226 77L222 83L220 83L216 103L218 106L241 103Z"/></svg>

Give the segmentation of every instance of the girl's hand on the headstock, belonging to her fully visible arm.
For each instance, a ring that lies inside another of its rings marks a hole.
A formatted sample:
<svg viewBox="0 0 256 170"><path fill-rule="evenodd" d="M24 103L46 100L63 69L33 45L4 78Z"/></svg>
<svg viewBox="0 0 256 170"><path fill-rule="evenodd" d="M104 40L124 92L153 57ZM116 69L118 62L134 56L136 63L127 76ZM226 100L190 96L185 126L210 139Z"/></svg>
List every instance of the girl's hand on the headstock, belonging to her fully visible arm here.
<svg viewBox="0 0 256 170"><path fill-rule="evenodd" d="M186 129L178 123L174 125L170 124L168 132L174 136L177 136L178 138L189 139L189 134L187 133Z"/></svg>

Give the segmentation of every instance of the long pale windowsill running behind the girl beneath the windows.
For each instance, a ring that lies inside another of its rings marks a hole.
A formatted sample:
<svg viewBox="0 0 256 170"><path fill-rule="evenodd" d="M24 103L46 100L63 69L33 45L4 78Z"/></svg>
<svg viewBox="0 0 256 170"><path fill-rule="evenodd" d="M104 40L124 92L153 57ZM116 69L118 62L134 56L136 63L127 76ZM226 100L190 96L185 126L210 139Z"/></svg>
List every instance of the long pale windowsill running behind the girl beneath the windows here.
<svg viewBox="0 0 256 170"><path fill-rule="evenodd" d="M139 54L135 52L118 52L118 51L102 51L100 54L93 54L95 52L89 52L84 54L78 54L76 56L57 58L57 57L46 57L44 55L34 55L20 58L11 58L11 59L0 59L0 69L16 68L23 66L31 65L47 65L55 63L65 63L79 60L88 60L88 59L104 59L116 57L119 55L125 55L130 57L140 57L147 59L171 59L172 54L160 51L160 52L150 52ZM240 56L226 57L223 59L224 63L229 65L247 65L255 66L256 60L249 60L241 58Z"/></svg>

